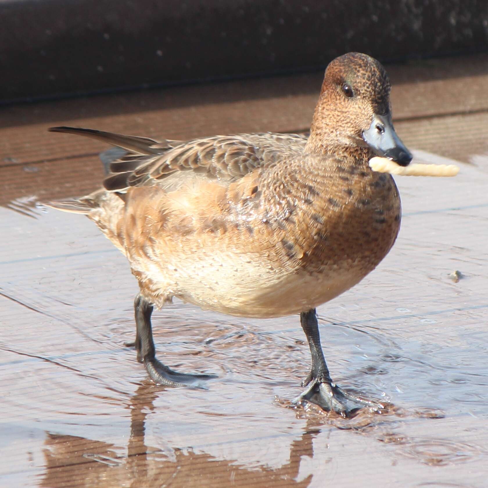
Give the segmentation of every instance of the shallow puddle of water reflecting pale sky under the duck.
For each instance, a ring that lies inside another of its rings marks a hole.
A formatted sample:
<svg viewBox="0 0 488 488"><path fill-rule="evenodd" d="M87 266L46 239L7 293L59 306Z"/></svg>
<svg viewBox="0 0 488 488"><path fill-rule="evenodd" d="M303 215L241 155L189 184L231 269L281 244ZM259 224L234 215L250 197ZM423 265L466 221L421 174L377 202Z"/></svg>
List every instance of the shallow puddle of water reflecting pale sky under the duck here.
<svg viewBox="0 0 488 488"><path fill-rule="evenodd" d="M290 406L310 366L298 317L170 305L154 314L159 357L219 377L207 391L153 385L123 346L137 292L123 256L81 216L29 197L0 208L2 483L484 486L484 183L463 166L455 179L398 184L394 249L318 310L337 383L388 403L349 420ZM455 269L466 279L450 280Z"/></svg>

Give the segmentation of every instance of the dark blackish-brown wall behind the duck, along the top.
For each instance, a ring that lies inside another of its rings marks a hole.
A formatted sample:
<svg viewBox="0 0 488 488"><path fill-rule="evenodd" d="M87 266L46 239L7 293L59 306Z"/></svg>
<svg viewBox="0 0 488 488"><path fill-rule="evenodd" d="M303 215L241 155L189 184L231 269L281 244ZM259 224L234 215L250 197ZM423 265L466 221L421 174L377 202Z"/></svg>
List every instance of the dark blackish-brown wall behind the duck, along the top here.
<svg viewBox="0 0 488 488"><path fill-rule="evenodd" d="M0 0L0 103L488 50L487 0Z"/></svg>

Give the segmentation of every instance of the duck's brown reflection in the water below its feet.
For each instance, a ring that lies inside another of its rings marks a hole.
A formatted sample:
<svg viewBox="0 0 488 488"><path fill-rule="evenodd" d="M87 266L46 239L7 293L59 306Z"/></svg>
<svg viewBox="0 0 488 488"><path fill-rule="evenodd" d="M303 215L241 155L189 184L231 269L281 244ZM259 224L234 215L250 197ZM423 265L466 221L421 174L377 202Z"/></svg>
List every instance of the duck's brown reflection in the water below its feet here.
<svg viewBox="0 0 488 488"><path fill-rule="evenodd" d="M100 440L48 433L46 472L40 486L66 487L308 487L312 475L297 481L304 457L313 457L313 439L320 428L309 420L290 445L289 461L278 469L248 467L239 459L217 459L192 448L151 447L145 441L146 417L161 394L149 382L131 397L130 436L126 447ZM170 421L170 420L168 420ZM265 441L264 441L265 442Z"/></svg>

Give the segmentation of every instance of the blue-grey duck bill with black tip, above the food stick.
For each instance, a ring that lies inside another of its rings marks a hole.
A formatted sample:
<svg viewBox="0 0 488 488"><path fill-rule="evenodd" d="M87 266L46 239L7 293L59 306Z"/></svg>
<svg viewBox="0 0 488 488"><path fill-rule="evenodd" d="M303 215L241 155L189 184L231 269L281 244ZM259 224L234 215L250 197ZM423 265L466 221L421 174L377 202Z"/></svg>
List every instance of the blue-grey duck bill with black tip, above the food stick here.
<svg viewBox="0 0 488 488"><path fill-rule="evenodd" d="M400 166L412 161L412 154L397 136L389 114L374 114L369 129L363 131L363 139L377 156L391 159Z"/></svg>

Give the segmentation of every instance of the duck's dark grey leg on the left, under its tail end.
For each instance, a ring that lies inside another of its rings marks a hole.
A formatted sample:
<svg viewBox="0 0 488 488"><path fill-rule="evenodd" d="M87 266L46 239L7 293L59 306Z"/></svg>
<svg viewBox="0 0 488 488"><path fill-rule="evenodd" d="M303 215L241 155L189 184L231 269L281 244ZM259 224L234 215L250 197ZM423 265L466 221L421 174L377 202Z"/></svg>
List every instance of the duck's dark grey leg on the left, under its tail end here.
<svg viewBox="0 0 488 488"><path fill-rule="evenodd" d="M174 371L156 359L156 349L152 336L151 314L153 305L140 294L134 300L136 316L136 340L125 346L134 346L137 360L142 363L151 379L158 385L201 387L202 380L216 378L213 374L187 374Z"/></svg>

